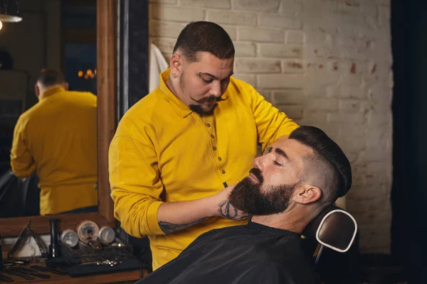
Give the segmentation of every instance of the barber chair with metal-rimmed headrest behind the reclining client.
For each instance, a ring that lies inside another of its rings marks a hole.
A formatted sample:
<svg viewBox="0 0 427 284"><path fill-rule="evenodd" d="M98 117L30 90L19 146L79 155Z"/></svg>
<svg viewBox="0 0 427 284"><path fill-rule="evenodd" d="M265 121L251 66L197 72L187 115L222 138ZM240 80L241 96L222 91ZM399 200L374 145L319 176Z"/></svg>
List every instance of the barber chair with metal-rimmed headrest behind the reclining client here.
<svg viewBox="0 0 427 284"><path fill-rule="evenodd" d="M358 283L357 222L351 214L331 205L307 225L302 238L321 283Z"/></svg>

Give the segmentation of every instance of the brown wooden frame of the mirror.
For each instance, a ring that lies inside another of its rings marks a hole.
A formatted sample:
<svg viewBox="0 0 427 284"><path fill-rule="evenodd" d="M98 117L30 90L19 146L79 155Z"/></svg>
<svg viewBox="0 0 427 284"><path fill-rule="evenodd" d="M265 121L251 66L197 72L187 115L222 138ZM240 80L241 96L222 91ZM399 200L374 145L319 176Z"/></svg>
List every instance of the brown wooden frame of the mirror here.
<svg viewBox="0 0 427 284"><path fill-rule="evenodd" d="M80 214L59 214L51 216L28 216L0 219L1 236L18 236L23 227L31 222L36 234L49 234L49 219L58 219L58 231L74 229L89 219L98 226L115 227L113 202L110 197L108 180L108 148L114 136L116 122L116 2L97 0L97 182L98 212Z"/></svg>

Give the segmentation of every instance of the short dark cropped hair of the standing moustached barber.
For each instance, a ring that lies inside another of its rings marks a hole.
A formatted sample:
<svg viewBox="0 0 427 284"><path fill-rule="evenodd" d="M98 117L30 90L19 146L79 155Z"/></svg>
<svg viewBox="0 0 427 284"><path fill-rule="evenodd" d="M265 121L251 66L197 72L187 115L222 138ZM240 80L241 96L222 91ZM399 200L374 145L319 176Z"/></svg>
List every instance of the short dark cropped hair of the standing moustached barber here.
<svg viewBox="0 0 427 284"><path fill-rule="evenodd" d="M207 52L219 59L234 56L234 45L230 35L218 24L196 21L189 23L179 33L173 53L181 50L189 62L197 61L197 53Z"/></svg>

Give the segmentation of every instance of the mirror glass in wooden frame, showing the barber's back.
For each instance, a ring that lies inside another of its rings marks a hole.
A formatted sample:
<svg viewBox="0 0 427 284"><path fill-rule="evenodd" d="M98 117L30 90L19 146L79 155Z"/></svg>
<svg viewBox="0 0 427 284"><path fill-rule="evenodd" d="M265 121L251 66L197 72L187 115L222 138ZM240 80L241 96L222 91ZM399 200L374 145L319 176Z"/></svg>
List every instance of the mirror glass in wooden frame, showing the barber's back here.
<svg viewBox="0 0 427 284"><path fill-rule="evenodd" d="M9 180L6 185L1 182L0 217L55 214L96 205L96 2L17 3L23 21L8 22L0 10L4 21L0 30L0 175L7 171L2 180ZM0 0L0 7L4 4L8 13L18 7L16 1ZM55 88L51 96L52 85L43 84L36 90L45 67L61 70L69 90L78 93ZM43 92L43 102L38 102L36 96ZM70 96L74 102L66 100ZM48 109L49 104L54 108ZM10 171L9 156L14 128L24 125L16 121L30 108L38 112L32 113L22 130L23 138L14 141L14 169L19 177L26 177L21 181ZM51 118L43 119L44 113Z"/></svg>

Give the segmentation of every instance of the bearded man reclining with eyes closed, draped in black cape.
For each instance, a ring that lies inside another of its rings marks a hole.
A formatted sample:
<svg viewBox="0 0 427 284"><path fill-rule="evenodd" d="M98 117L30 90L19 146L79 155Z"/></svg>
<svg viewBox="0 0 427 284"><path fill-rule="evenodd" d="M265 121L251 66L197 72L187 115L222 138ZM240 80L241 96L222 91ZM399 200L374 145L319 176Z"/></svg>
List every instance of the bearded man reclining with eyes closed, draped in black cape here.
<svg viewBox="0 0 427 284"><path fill-rule="evenodd" d="M323 131L301 126L253 167L230 194L251 222L202 234L138 283L318 283L300 234L351 187L349 160Z"/></svg>

